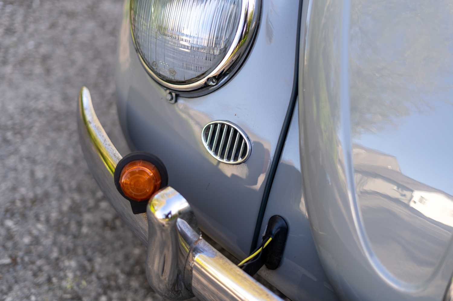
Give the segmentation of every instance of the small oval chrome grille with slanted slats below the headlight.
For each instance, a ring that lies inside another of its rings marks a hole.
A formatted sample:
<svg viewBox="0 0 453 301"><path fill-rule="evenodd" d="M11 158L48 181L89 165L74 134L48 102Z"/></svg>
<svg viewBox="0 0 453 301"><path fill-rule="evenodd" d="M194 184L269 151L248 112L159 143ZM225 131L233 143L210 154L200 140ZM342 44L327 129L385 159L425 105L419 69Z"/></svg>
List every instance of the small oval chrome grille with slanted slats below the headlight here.
<svg viewBox="0 0 453 301"><path fill-rule="evenodd" d="M203 128L202 140L207 151L223 163L239 164L250 155L247 135L231 122L209 122Z"/></svg>

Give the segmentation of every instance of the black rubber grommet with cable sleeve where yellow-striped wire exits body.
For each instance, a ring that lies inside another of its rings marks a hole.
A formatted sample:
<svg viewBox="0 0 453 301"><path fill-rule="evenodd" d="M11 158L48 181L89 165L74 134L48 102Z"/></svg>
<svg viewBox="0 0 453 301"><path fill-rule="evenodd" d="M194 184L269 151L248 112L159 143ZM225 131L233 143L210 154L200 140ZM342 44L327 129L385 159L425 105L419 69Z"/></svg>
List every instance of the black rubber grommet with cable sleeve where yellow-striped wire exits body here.
<svg viewBox="0 0 453 301"><path fill-rule="evenodd" d="M275 270L279 267L282 259L284 246L286 245L286 238L288 236L288 225L283 217L274 215L269 219L266 227L265 235L262 237L261 244L252 252L252 254L262 247L266 241L272 237L269 245L267 245L260 254L256 255L248 263L242 266L242 269L249 275L255 275L258 270L266 265L266 268Z"/></svg>

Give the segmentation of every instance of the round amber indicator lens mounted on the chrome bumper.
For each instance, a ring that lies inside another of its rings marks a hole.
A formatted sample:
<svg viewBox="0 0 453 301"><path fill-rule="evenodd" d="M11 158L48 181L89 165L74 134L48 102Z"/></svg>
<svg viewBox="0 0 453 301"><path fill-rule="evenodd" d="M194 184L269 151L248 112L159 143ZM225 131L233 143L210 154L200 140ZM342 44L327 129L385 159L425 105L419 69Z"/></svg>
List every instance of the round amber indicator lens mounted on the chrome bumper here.
<svg viewBox="0 0 453 301"><path fill-rule="evenodd" d="M159 170L145 160L135 160L121 170L120 186L124 195L135 201L145 201L160 188Z"/></svg>

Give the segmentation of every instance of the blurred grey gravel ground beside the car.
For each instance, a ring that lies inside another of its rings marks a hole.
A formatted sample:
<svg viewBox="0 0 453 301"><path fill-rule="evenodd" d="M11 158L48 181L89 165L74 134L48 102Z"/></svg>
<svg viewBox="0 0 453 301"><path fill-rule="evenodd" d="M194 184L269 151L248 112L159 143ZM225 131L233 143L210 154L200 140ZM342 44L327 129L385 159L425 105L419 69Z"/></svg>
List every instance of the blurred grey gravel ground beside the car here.
<svg viewBox="0 0 453 301"><path fill-rule="evenodd" d="M87 85L127 149L113 78L122 5L0 0L0 300L161 300L78 145Z"/></svg>

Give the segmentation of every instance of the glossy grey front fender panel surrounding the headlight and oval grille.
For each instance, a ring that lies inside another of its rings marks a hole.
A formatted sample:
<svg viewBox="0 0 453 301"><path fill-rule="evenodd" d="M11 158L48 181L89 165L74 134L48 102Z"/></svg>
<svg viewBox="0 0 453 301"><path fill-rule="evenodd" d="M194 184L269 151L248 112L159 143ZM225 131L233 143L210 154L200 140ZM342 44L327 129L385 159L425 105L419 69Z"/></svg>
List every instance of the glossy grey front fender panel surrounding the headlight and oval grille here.
<svg viewBox="0 0 453 301"><path fill-rule="evenodd" d="M161 158L169 184L190 200L200 228L237 258L248 255L265 180L288 108L294 76L298 1L263 1L246 61L215 93L165 100L141 66L130 37L129 5L121 25L116 87L130 145ZM253 87L253 89L251 89ZM251 140L243 164L214 159L200 139L213 120L237 124Z"/></svg>

